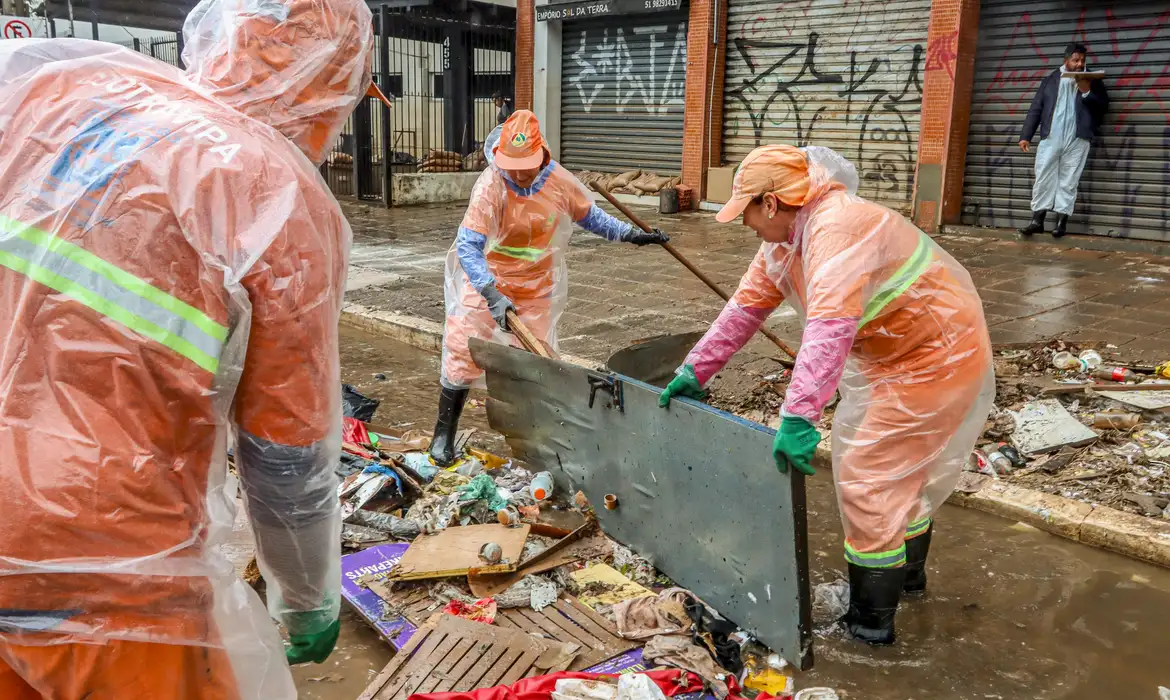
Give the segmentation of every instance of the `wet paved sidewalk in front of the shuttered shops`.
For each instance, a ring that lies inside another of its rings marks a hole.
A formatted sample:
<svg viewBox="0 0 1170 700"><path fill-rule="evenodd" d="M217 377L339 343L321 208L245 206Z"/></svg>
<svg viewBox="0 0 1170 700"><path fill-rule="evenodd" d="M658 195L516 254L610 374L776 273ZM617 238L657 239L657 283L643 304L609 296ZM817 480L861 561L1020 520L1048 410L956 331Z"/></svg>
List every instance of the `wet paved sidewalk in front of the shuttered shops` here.
<svg viewBox="0 0 1170 700"><path fill-rule="evenodd" d="M353 226L349 301L443 318L443 262L464 205L385 210L343 201ZM759 247L742 225L706 213L663 217L639 210L675 247L728 291ZM935 240L970 270L992 341L1052 337L1110 343L1133 361L1170 358L1170 258L1088 251L1075 239L1004 240L944 234ZM569 307L560 322L565 352L604 361L634 341L703 330L723 302L666 251L613 245L586 232L569 249ZM799 341L794 317L777 314L776 332ZM753 348L768 351L766 344Z"/></svg>

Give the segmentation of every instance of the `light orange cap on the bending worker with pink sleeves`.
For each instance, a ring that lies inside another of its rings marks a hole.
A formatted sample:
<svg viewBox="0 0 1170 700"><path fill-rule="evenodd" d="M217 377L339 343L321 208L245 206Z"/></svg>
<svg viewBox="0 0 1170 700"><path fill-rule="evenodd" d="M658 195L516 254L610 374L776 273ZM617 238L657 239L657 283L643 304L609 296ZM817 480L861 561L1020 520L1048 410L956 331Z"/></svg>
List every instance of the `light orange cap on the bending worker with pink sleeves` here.
<svg viewBox="0 0 1170 700"><path fill-rule="evenodd" d="M759 146L748 153L735 171L731 199L716 221L735 221L751 200L769 192L789 206L804 206L808 201L808 159L800 149L786 145Z"/></svg>

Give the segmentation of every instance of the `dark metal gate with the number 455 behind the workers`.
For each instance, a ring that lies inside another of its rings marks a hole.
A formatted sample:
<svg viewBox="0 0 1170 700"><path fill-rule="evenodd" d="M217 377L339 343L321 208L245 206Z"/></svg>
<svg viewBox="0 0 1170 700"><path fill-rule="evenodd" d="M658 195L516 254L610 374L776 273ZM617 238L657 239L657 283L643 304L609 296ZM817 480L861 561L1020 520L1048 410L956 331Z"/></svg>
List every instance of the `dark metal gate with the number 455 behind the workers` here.
<svg viewBox="0 0 1170 700"><path fill-rule="evenodd" d="M322 174L339 197L390 206L393 173L484 167L483 139L497 123L493 96L511 97L515 27L390 7L374 27L374 82L394 108L363 99Z"/></svg>

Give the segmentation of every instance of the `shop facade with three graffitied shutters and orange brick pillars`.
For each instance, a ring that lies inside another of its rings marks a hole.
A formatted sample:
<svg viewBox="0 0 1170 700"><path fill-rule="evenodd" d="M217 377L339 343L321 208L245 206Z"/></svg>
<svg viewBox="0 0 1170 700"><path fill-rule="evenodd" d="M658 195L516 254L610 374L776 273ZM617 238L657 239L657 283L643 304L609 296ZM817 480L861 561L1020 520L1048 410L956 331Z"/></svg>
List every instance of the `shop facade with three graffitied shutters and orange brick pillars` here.
<svg viewBox="0 0 1170 700"><path fill-rule="evenodd" d="M715 204L751 149L826 145L931 232L1028 219L1024 117L1085 43L1112 104L1069 229L1170 240L1168 0L530 1L517 105L571 170L680 174Z"/></svg>

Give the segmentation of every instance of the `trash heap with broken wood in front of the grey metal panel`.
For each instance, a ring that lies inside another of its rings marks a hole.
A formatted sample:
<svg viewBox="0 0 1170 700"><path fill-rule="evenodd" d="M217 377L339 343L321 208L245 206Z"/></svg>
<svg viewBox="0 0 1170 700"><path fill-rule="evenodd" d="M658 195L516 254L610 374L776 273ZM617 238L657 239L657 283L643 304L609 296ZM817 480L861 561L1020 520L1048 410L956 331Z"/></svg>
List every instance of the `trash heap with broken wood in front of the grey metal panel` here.
<svg viewBox="0 0 1170 700"><path fill-rule="evenodd" d="M343 407L343 595L399 650L367 695L429 678L414 693L530 698L516 685L531 681L550 700L665 700L651 681L668 671L672 696L682 684L690 698L835 698L794 695L780 657L607 537L546 472L468 447L474 431L440 468L428 435L372 426L377 402L346 385Z"/></svg>

